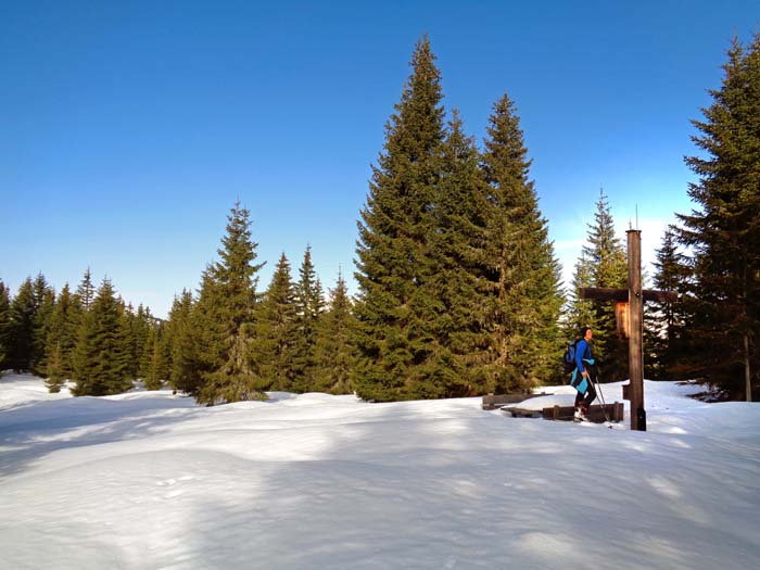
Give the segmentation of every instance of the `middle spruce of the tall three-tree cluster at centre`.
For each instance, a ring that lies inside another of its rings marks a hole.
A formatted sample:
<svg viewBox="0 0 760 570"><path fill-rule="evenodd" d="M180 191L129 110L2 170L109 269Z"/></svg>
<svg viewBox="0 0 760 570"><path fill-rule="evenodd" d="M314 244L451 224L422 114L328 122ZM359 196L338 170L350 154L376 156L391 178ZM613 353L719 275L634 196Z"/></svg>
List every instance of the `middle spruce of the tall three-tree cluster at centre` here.
<svg viewBox="0 0 760 570"><path fill-rule="evenodd" d="M456 110L441 148L441 175L429 238L431 379L420 397L457 397L493 390L490 325L483 306L487 186L474 140Z"/></svg>

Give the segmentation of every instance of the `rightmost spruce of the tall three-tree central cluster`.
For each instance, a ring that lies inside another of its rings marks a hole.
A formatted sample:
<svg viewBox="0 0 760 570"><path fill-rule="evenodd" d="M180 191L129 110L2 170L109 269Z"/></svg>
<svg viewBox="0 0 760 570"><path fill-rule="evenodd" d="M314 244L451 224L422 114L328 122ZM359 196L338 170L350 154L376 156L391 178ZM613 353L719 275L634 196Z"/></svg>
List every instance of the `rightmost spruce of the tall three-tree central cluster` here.
<svg viewBox="0 0 760 570"><path fill-rule="evenodd" d="M493 294L497 389L552 380L561 354L559 264L529 178L531 160L514 102L504 94L486 128L482 168L489 183L487 263Z"/></svg>

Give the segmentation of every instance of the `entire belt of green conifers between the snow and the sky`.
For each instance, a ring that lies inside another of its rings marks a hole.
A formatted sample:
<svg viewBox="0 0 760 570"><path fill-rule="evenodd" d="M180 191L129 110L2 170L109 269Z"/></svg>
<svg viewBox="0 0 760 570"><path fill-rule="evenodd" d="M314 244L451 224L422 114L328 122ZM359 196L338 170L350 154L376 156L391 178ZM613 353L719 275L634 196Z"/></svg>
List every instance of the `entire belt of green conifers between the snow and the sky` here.
<svg viewBox="0 0 760 570"><path fill-rule="evenodd" d="M71 381L76 395L141 380L207 405L271 390L473 396L562 383L565 345L588 326L601 380L626 378L613 307L578 294L626 287L608 197L566 293L512 100L493 104L479 145L441 103L427 37L410 67L359 213L356 295L342 276L326 291L309 249L296 277L283 254L259 291L258 244L237 203L218 259L167 320L126 304L107 279L96 288L89 269L60 292L43 275L14 295L0 280L0 370L29 370L51 392ZM676 214L657 251L654 286L679 299L645 307L645 377L699 379L750 400L760 383L760 35L735 39L723 69L693 121L695 210Z"/></svg>

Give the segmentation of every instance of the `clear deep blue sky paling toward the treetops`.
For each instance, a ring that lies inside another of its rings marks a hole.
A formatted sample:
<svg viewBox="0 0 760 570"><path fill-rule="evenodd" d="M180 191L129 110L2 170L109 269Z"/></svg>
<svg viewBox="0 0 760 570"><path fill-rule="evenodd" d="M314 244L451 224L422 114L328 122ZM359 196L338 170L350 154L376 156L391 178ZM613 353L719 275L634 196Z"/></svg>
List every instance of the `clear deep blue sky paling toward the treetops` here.
<svg viewBox="0 0 760 570"><path fill-rule="evenodd" d="M482 141L516 102L541 208L572 269L604 187L644 256L692 206L692 118L757 0L0 0L0 279L60 291L89 266L165 316L251 210L259 290L284 251L351 278L384 125L428 34L447 110Z"/></svg>

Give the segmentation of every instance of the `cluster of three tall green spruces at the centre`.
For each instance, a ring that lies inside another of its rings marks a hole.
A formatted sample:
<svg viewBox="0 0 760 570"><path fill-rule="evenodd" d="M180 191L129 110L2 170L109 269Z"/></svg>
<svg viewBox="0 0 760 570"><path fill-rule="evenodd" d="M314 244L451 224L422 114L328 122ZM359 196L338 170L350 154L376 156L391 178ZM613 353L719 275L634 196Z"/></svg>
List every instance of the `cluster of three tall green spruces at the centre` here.
<svg viewBox="0 0 760 570"><path fill-rule="evenodd" d="M428 38L362 211L354 383L393 401L528 389L559 358L559 266L505 96L485 152L444 125Z"/></svg>

